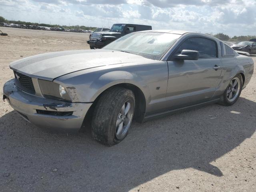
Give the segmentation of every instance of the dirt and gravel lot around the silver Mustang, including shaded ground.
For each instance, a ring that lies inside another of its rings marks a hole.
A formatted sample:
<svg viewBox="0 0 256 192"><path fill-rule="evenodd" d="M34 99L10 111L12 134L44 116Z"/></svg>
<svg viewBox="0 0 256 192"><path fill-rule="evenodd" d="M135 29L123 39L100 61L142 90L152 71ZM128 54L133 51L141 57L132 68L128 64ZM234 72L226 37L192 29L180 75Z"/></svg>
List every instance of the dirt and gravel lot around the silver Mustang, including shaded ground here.
<svg viewBox="0 0 256 192"><path fill-rule="evenodd" d="M9 63L21 56L89 48L88 34L0 30L9 34L0 36L1 95L14 76ZM0 191L255 192L255 73L233 106L212 104L134 123L113 147L98 144L89 130L52 134L37 128L1 100Z"/></svg>

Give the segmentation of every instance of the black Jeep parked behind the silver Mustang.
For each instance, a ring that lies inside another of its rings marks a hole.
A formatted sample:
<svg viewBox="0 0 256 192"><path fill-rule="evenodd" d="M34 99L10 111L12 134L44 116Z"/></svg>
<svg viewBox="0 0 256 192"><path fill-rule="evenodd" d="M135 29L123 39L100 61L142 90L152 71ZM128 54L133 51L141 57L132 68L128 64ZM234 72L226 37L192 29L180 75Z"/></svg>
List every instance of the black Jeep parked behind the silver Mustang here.
<svg viewBox="0 0 256 192"><path fill-rule="evenodd" d="M96 32L86 42L91 49L102 48L110 42L132 32L152 30L152 26L136 24L114 24L108 32Z"/></svg>

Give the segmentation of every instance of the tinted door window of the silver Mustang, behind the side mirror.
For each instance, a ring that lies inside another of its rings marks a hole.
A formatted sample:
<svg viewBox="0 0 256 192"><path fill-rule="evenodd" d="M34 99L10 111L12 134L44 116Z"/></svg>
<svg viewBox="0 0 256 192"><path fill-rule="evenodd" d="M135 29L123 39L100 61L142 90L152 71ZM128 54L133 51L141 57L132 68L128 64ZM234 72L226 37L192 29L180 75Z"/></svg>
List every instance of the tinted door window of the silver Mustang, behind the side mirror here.
<svg viewBox="0 0 256 192"><path fill-rule="evenodd" d="M195 50L199 52L199 58L216 58L217 48L216 43L213 40L193 37L185 40L175 54L181 53L182 50Z"/></svg>

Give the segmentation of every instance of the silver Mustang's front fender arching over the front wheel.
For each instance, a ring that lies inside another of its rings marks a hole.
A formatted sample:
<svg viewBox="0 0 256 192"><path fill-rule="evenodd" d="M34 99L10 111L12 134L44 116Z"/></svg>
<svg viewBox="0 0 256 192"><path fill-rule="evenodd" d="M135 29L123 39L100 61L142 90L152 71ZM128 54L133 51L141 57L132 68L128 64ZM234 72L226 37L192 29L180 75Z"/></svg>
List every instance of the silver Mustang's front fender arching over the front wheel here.
<svg viewBox="0 0 256 192"><path fill-rule="evenodd" d="M104 68L104 67L103 67ZM76 94L76 102L94 102L96 98L111 86L129 83L137 86L145 95L149 95L148 85L135 73L124 70L88 69L59 77L54 82L62 84L68 92Z"/></svg>

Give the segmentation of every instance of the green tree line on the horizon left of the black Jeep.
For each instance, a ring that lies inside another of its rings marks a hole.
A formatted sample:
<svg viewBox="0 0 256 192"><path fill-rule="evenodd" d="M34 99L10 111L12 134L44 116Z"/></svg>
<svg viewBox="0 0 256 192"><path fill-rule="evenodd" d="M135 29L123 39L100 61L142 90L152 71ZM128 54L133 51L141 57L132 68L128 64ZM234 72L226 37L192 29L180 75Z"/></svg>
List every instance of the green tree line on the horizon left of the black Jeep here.
<svg viewBox="0 0 256 192"><path fill-rule="evenodd" d="M86 26L66 26L66 25L50 25L50 24L44 24L44 23L32 23L32 22L25 22L25 21L14 21L14 20L7 20L4 17L0 16L0 22L2 23L13 23L13 24L23 24L23 25L35 25L35 26L44 26L44 27L58 27L58 28L67 28L67 29L82 29L82 30L92 30L94 31L97 27L86 27Z"/></svg>

